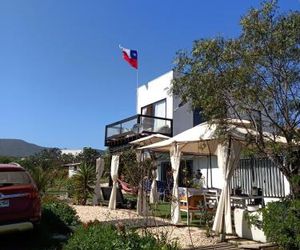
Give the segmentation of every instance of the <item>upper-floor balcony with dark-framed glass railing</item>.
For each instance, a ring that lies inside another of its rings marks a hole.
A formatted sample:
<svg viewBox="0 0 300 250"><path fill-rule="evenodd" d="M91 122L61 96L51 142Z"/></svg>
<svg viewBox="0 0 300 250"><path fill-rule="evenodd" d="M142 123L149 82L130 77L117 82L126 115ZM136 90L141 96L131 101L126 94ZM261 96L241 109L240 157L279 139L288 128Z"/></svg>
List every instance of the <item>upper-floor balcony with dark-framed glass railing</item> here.
<svg viewBox="0 0 300 250"><path fill-rule="evenodd" d="M105 146L122 146L149 134L172 136L173 120L161 117L135 115L106 125Z"/></svg>

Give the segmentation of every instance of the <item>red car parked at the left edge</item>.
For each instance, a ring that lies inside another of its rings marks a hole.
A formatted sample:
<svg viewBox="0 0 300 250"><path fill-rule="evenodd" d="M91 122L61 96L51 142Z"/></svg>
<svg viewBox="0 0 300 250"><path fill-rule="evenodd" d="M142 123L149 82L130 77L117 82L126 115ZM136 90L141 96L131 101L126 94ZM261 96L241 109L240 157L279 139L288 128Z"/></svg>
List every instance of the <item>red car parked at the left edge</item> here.
<svg viewBox="0 0 300 250"><path fill-rule="evenodd" d="M0 233L32 229L41 219L41 200L19 164L0 164Z"/></svg>

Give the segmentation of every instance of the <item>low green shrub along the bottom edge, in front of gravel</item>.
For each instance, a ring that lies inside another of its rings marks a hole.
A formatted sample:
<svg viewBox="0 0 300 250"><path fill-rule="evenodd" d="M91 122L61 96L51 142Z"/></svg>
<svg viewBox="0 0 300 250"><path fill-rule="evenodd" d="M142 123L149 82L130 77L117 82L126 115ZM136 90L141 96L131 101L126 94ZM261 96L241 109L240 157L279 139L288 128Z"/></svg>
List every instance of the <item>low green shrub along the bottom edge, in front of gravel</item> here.
<svg viewBox="0 0 300 250"><path fill-rule="evenodd" d="M65 250L133 250L133 249L177 249L176 246L158 242L154 236L140 236L134 231L128 231L120 224L116 226L93 222L81 226L75 231Z"/></svg>

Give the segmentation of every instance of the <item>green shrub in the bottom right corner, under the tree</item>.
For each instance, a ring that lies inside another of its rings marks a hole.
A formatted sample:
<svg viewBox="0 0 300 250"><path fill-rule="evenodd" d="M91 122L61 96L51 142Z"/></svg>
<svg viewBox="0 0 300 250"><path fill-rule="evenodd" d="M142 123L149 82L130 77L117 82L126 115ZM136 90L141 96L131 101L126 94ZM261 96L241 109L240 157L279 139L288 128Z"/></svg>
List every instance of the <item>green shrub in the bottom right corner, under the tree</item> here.
<svg viewBox="0 0 300 250"><path fill-rule="evenodd" d="M263 230L283 249L300 249L300 200L269 203L263 209Z"/></svg>

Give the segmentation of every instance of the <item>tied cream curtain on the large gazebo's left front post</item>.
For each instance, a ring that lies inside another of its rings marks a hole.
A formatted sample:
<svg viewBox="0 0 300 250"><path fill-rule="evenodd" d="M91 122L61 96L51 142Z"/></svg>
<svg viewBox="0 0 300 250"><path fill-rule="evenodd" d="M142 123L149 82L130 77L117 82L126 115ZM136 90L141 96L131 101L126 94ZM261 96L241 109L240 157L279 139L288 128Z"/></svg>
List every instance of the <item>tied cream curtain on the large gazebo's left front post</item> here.
<svg viewBox="0 0 300 250"><path fill-rule="evenodd" d="M179 209L179 193L178 193L178 174L180 166L181 152L179 146L174 144L170 149L171 166L173 172L173 191L171 204L171 221L173 224L178 224L181 221Z"/></svg>

